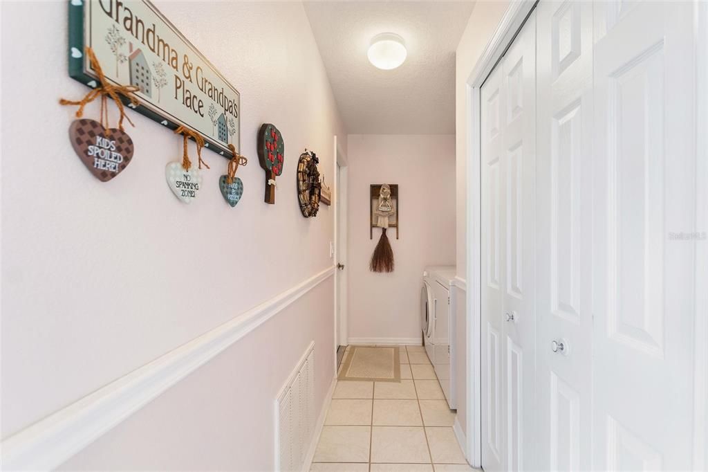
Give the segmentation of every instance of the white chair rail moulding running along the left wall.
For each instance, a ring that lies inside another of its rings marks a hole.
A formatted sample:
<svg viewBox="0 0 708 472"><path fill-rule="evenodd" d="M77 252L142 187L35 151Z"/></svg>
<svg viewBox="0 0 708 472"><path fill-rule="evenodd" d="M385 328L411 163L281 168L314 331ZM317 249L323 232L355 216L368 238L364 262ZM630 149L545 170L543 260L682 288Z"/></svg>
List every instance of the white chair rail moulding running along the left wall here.
<svg viewBox="0 0 708 472"><path fill-rule="evenodd" d="M13 434L1 444L3 469L57 468L333 274L331 266Z"/></svg>

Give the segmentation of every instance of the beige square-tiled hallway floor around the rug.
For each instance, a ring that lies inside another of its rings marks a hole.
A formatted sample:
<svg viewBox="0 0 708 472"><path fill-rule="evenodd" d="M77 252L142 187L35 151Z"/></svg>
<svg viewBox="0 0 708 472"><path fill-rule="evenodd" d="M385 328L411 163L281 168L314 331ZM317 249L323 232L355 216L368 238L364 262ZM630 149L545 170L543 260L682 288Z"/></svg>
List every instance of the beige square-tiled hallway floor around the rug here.
<svg viewBox="0 0 708 472"><path fill-rule="evenodd" d="M338 381L311 471L472 471L455 412L421 346L400 346L401 383ZM348 356L347 348L345 356Z"/></svg>

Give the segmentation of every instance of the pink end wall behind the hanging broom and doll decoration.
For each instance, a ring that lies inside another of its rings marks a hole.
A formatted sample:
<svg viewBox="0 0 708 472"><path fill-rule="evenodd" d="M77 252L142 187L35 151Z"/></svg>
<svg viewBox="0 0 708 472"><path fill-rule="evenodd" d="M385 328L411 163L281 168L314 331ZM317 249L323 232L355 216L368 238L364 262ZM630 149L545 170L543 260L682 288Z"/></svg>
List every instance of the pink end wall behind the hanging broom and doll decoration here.
<svg viewBox="0 0 708 472"><path fill-rule="evenodd" d="M455 264L455 137L349 135L349 338L421 338L423 268ZM370 184L398 184L400 239L389 230L396 269L369 271L381 230L369 238Z"/></svg>

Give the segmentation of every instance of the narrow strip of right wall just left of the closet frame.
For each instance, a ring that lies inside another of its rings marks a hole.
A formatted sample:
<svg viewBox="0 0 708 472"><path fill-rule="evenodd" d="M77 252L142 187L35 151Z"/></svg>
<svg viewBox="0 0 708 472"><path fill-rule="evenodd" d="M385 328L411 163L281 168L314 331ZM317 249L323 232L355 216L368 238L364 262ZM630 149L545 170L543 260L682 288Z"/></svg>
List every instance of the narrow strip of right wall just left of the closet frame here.
<svg viewBox="0 0 708 472"><path fill-rule="evenodd" d="M472 15L467 22L467 28L462 33L462 38L457 45L455 54L455 205L457 209L457 230L455 231L455 246L457 248L457 276L467 279L467 194L469 192L479 192L479 188L467 189L467 137L469 128L472 126L467 116L467 79L472 73L475 64L484 52L484 47L491 39L501 21L509 2L505 0L478 1L474 4ZM469 143L479 146L479 143ZM470 281L467 281L469 284ZM467 294L462 288L455 288L455 297L460 300L456 304L457 308L457 330L455 332L455 342L458 352L465 352L467 347L467 325L464 324L467 313ZM479 300L472 300L472 303L479 303ZM457 420L462 428L462 432L467 434L466 413L467 402L467 369L469 359L467 356L457 356Z"/></svg>

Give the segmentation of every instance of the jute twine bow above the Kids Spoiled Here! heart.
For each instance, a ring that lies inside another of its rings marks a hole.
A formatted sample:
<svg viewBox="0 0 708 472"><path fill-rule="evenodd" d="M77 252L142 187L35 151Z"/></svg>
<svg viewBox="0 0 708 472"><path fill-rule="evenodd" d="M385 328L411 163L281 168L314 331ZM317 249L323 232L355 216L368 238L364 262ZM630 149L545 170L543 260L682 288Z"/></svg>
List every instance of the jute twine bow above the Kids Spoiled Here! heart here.
<svg viewBox="0 0 708 472"><path fill-rule="evenodd" d="M126 99L130 100L130 103L132 103L134 106L138 106L140 102L133 94L133 92L139 91L140 87L136 85L111 84L110 82L108 82L108 79L105 78L105 75L103 74L103 69L101 69L101 64L98 63L98 59L96 59L96 55L93 54L93 50L91 49L91 47L86 47L86 57L89 57L91 68L96 71L96 75L98 75L98 81L101 82L101 85L89 91L89 93L86 94L86 96L84 96L84 98L79 101L59 99L59 104L78 105L79 109L76 110L76 118L81 118L81 116L84 116L84 107L100 96L101 118L99 122L101 123L101 126L105 128L106 134L110 134L110 130L108 129L107 106L108 97L110 97L111 99L113 99L113 101L115 101L115 105L118 106L118 111L120 111L120 118L118 119L118 129L123 131L123 118L128 120L128 123L130 123L131 126L135 127L135 124L133 124L133 122L130 120L130 117L125 114L125 107L123 106L123 102L120 100L120 96L125 96Z"/></svg>

